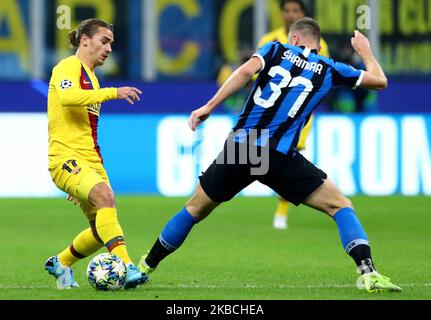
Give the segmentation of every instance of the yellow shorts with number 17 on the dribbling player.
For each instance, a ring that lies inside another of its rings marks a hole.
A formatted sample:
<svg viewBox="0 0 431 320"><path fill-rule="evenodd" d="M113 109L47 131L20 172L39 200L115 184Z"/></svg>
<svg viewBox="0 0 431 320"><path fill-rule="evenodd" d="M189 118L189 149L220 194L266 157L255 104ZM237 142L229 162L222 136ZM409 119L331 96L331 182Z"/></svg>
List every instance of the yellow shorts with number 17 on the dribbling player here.
<svg viewBox="0 0 431 320"><path fill-rule="evenodd" d="M96 208L88 199L91 189L105 182L111 187L103 165L88 163L80 159L66 160L50 169L52 181L62 191L79 199L81 209L91 221L96 217Z"/></svg>

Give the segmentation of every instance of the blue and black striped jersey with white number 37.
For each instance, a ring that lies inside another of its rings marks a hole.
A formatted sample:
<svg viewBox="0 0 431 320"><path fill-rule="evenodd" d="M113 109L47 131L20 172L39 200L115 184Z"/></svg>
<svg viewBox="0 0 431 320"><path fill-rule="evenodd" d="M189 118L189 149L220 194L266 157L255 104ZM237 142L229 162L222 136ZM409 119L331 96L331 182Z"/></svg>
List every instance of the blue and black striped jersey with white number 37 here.
<svg viewBox="0 0 431 320"><path fill-rule="evenodd" d="M316 50L278 41L266 43L254 56L262 70L233 128L234 139L242 142L257 130L257 145L269 143L284 154L294 150L302 128L331 89L356 88L364 74Z"/></svg>

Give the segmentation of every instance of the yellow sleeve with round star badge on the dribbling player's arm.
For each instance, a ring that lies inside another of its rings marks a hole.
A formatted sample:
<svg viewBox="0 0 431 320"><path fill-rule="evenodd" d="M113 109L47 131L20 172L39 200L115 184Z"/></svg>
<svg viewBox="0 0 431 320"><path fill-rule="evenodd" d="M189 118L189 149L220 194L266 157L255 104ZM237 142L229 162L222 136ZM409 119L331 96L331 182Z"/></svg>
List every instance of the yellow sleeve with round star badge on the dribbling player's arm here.
<svg viewBox="0 0 431 320"><path fill-rule="evenodd" d="M117 98L117 88L85 90L80 85L80 69L58 65L52 74L52 84L63 106L86 107Z"/></svg>

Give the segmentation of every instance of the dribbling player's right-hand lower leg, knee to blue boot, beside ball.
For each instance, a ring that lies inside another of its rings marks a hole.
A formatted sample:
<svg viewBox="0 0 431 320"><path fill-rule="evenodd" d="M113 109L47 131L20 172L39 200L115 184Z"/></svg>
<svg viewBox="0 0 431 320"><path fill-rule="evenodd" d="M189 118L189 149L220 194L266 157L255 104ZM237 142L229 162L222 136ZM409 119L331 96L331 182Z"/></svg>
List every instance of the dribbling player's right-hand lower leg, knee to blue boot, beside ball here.
<svg viewBox="0 0 431 320"><path fill-rule="evenodd" d="M148 280L133 264L127 252L123 230L118 222L114 194L106 183L99 183L89 194L91 203L97 208L96 230L109 252L118 255L126 264L127 275L125 289L136 288Z"/></svg>

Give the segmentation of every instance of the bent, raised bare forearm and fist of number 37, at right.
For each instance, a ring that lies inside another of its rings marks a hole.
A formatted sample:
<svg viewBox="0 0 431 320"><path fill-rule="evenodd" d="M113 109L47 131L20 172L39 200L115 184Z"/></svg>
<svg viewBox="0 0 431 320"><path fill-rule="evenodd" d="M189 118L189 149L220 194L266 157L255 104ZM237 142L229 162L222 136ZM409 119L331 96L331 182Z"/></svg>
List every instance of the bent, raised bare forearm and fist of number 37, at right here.
<svg viewBox="0 0 431 320"><path fill-rule="evenodd" d="M383 90L388 86L388 79L371 50L370 42L358 30L352 37L352 47L361 57L367 71L364 72L361 87L374 90Z"/></svg>

